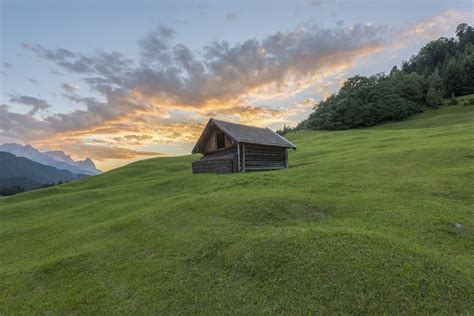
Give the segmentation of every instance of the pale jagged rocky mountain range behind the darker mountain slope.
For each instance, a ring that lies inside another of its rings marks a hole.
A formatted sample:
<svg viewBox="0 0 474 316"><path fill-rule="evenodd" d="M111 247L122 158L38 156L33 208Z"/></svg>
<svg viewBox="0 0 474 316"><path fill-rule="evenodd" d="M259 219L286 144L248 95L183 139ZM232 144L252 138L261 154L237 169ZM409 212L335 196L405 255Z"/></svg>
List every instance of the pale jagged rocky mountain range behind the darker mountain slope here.
<svg viewBox="0 0 474 316"><path fill-rule="evenodd" d="M0 151L9 152L17 157L24 157L46 166L68 170L74 174L96 175L102 172L89 158L75 161L60 150L41 152L30 145L4 144L0 145Z"/></svg>

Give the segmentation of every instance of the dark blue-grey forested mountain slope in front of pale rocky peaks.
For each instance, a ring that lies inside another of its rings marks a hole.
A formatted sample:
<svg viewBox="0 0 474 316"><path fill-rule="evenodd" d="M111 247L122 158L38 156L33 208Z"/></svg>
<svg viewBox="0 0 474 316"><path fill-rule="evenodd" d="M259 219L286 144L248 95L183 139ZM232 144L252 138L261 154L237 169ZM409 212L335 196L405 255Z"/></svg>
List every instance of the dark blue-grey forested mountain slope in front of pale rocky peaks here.
<svg viewBox="0 0 474 316"><path fill-rule="evenodd" d="M31 190L43 184L69 182L85 177L87 175L76 175L11 153L0 152L0 186L19 185Z"/></svg>

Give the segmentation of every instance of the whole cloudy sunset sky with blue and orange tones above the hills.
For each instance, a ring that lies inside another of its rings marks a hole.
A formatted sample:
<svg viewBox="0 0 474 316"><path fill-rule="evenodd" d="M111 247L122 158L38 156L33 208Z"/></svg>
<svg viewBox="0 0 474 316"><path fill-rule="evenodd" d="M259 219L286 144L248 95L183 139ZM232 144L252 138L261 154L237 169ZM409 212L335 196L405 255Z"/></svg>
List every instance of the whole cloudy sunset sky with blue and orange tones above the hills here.
<svg viewBox="0 0 474 316"><path fill-rule="evenodd" d="M209 117L294 125L474 20L472 0L0 4L0 143L105 170L188 154Z"/></svg>

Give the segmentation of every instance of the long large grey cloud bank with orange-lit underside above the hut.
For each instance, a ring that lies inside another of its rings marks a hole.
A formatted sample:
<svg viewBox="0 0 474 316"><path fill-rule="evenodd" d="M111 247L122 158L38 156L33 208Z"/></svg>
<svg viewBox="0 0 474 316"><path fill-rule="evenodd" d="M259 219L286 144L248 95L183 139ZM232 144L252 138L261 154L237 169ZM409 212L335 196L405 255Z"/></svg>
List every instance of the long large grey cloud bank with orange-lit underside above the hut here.
<svg viewBox="0 0 474 316"><path fill-rule="evenodd" d="M373 25L308 25L260 41L213 42L198 54L184 44L172 45L174 33L160 25L138 41L143 58L138 66L118 52L81 55L40 45L30 49L43 58L54 58L68 71L87 73L83 80L106 97L112 91L138 90L145 97L199 107L209 100L227 101L261 86L279 84L290 74L304 77L324 66L350 62L357 50L381 45L388 30Z"/></svg>

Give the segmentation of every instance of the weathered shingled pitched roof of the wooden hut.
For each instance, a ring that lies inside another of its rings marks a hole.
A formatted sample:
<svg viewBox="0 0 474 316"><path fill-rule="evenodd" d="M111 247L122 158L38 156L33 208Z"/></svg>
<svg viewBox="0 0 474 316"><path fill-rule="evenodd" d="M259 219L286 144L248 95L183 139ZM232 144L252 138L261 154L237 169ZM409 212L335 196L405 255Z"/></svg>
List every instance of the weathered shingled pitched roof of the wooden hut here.
<svg viewBox="0 0 474 316"><path fill-rule="evenodd" d="M209 130L212 129L213 126L217 127L237 143L260 144L296 149L296 146L293 143L269 128L231 123L211 118L204 128L201 137L199 137L196 146L194 146L193 153L202 151L205 146L204 142L207 141L208 135L210 135Z"/></svg>

